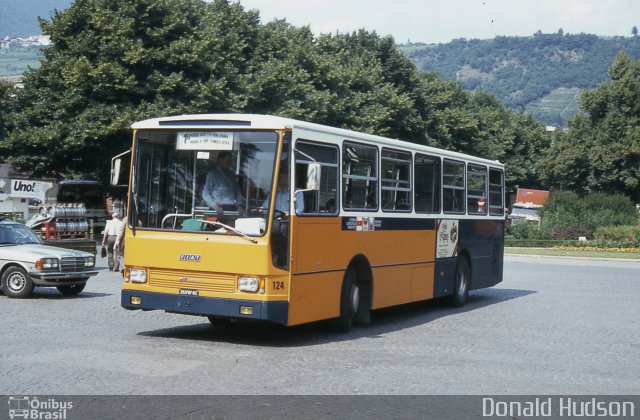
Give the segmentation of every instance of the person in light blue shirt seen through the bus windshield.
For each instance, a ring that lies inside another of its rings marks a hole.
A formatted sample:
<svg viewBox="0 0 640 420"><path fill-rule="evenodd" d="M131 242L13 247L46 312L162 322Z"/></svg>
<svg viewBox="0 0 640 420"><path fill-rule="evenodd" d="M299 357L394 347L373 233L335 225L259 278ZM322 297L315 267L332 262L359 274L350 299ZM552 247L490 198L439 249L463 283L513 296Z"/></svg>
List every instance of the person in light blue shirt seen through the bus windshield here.
<svg viewBox="0 0 640 420"><path fill-rule="evenodd" d="M233 155L223 150L218 154L217 164L209 171L204 183L202 198L207 206L214 209L218 216L222 216L225 207L237 207L240 215L244 214L244 197L235 174L231 171Z"/></svg>

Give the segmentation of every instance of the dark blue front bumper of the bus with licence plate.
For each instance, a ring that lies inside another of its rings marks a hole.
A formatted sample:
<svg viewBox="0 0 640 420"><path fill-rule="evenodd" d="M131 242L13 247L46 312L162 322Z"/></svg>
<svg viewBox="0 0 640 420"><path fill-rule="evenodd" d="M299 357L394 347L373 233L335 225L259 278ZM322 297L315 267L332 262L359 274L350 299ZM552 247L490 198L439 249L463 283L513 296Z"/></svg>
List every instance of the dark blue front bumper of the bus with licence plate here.
<svg viewBox="0 0 640 420"><path fill-rule="evenodd" d="M123 308L131 310L159 309L188 315L264 320L281 325L287 325L289 312L288 302L218 299L138 290L123 290L120 302Z"/></svg>

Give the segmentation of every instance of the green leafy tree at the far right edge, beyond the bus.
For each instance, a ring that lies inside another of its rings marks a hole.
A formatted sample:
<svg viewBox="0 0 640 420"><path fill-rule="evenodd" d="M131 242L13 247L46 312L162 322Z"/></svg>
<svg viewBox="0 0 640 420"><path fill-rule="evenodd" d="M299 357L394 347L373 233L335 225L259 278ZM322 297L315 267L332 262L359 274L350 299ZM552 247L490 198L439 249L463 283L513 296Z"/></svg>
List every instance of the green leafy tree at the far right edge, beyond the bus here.
<svg viewBox="0 0 640 420"><path fill-rule="evenodd" d="M622 192L640 201L640 61L621 52L609 76L583 93L582 113L546 151L541 176L561 188Z"/></svg>

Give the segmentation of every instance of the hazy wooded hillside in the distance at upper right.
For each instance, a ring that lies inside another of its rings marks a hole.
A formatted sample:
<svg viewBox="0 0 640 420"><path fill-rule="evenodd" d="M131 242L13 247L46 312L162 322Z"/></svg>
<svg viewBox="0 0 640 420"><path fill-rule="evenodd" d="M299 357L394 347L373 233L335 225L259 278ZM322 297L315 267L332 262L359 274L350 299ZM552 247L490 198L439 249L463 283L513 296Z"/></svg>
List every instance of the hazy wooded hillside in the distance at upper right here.
<svg viewBox="0 0 640 420"><path fill-rule="evenodd" d="M447 44L400 45L419 69L486 90L505 105L524 108L548 125L566 126L578 110L582 89L608 80L615 55L640 58L640 38L536 33L491 40L457 39Z"/></svg>

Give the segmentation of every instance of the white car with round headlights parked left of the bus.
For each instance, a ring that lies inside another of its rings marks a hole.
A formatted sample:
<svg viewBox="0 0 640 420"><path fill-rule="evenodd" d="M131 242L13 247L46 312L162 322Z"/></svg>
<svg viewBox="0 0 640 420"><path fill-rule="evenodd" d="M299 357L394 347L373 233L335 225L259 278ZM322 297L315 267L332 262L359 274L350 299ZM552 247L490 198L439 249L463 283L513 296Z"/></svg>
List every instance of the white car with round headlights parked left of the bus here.
<svg viewBox="0 0 640 420"><path fill-rule="evenodd" d="M95 261L88 252L43 245L22 223L0 221L0 280L10 298L26 298L34 286L77 295L98 274Z"/></svg>

